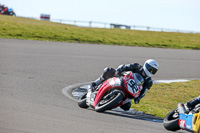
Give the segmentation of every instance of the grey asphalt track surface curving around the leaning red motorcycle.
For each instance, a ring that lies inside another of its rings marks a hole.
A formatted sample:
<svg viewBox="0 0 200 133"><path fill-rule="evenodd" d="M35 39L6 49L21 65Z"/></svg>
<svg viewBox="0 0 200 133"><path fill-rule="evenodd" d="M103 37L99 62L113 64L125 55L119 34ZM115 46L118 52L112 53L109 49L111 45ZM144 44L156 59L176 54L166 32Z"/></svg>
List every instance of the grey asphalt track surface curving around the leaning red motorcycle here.
<svg viewBox="0 0 200 133"><path fill-rule="evenodd" d="M160 64L154 79L200 79L199 57L197 50L0 39L0 132L168 133L162 123L81 109L62 89L148 58Z"/></svg>

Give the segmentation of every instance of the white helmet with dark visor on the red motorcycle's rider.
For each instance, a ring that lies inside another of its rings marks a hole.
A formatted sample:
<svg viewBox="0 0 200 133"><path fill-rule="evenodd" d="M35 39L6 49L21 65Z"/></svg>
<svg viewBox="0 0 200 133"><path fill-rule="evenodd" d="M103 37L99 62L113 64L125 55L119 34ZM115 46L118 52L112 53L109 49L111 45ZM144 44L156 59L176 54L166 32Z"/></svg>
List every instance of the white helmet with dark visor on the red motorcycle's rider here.
<svg viewBox="0 0 200 133"><path fill-rule="evenodd" d="M148 77L151 77L156 74L158 71L158 62L153 59L148 59L143 66L144 72Z"/></svg>

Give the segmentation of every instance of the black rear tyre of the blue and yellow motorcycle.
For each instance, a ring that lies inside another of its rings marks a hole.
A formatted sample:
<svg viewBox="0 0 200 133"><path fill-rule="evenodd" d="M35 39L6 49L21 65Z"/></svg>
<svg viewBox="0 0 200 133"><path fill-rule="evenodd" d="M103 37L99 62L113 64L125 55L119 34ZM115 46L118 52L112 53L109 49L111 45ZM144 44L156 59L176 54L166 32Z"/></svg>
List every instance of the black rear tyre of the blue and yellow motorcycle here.
<svg viewBox="0 0 200 133"><path fill-rule="evenodd" d="M165 129L170 131L179 130L179 114L176 112L177 109L172 110L163 121Z"/></svg>

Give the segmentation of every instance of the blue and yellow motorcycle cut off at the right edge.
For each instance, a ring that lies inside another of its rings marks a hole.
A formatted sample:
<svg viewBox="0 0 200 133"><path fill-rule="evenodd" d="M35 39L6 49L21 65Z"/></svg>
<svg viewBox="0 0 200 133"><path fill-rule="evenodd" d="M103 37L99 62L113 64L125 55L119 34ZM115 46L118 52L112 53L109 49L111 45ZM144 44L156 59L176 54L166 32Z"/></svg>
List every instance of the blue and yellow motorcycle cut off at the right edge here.
<svg viewBox="0 0 200 133"><path fill-rule="evenodd" d="M200 133L200 104L194 109L188 109L183 103L172 110L163 120L165 129L176 131L183 129L189 132Z"/></svg>

